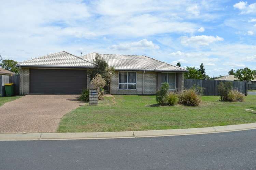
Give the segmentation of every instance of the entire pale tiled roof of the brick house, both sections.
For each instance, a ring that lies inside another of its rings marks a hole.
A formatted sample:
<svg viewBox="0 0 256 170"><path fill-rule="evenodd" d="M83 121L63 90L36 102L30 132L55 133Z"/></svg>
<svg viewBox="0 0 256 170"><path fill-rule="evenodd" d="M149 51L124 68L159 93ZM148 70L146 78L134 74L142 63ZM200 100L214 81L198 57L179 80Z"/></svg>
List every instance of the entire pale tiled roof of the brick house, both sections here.
<svg viewBox="0 0 256 170"><path fill-rule="evenodd" d="M61 51L32 60L19 62L22 67L94 67L93 61L97 53L93 52L81 57ZM145 70L145 71L187 71L144 55L99 54L109 67L115 70Z"/></svg>

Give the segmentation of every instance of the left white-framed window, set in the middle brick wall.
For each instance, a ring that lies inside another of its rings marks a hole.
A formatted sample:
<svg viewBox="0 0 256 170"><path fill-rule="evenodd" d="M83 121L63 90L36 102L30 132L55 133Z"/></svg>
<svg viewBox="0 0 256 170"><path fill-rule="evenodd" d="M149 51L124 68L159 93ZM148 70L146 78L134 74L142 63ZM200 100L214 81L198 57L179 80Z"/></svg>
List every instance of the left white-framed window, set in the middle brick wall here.
<svg viewBox="0 0 256 170"><path fill-rule="evenodd" d="M136 89L136 72L119 72L119 89Z"/></svg>

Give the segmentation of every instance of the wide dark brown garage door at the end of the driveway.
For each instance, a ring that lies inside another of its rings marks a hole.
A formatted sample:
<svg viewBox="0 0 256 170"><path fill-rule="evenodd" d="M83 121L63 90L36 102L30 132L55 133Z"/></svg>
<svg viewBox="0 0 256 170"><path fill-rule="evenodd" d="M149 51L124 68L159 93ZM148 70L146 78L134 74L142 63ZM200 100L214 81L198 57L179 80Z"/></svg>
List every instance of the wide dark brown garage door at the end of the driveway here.
<svg viewBox="0 0 256 170"><path fill-rule="evenodd" d="M30 93L79 94L86 88L86 70L30 69Z"/></svg>

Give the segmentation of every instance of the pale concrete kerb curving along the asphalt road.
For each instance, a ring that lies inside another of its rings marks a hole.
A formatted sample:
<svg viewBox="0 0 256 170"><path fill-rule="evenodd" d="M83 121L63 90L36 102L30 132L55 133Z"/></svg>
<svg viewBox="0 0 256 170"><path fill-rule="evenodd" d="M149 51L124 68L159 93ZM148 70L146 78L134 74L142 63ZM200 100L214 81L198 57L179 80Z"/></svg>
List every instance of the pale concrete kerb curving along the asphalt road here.
<svg viewBox="0 0 256 170"><path fill-rule="evenodd" d="M115 139L157 136L178 136L207 133L221 133L256 129L256 123L229 126L216 126L207 128L167 129L150 131L124 131L124 132L85 132L85 133L2 133L0 141L10 140L77 140L77 139Z"/></svg>

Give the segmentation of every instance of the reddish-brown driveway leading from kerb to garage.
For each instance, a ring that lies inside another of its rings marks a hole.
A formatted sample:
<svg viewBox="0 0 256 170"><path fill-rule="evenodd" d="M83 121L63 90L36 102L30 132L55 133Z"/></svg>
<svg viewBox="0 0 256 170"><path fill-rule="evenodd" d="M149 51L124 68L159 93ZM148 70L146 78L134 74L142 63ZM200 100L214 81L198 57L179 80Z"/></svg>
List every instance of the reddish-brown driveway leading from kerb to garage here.
<svg viewBox="0 0 256 170"><path fill-rule="evenodd" d="M26 95L0 107L0 133L55 132L63 115L81 105L76 95Z"/></svg>

